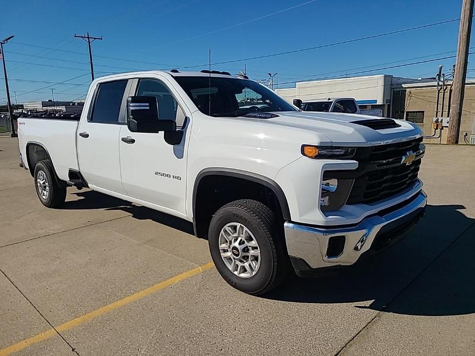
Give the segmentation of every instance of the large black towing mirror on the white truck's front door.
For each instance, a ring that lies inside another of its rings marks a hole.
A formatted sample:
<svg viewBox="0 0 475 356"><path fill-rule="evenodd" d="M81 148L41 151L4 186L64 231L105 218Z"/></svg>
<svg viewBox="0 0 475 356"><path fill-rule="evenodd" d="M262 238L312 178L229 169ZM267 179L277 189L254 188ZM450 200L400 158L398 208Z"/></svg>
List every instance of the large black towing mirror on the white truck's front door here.
<svg viewBox="0 0 475 356"><path fill-rule="evenodd" d="M177 124L173 120L159 120L155 96L129 96L127 127L131 132L157 133L176 131Z"/></svg>

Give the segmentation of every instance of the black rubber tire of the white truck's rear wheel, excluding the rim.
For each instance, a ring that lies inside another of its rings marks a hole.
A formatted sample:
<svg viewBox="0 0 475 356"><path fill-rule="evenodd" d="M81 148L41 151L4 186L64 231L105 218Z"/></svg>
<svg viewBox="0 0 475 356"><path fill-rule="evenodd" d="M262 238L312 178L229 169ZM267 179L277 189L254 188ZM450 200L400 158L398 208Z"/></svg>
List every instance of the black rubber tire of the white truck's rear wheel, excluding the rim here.
<svg viewBox="0 0 475 356"><path fill-rule="evenodd" d="M37 183L38 175L44 173L46 183L48 184L48 195L43 197L40 193L40 188ZM48 208L56 208L64 204L66 200L66 184L61 181L54 172L53 165L50 160L40 161L34 167L34 183L36 194L40 202Z"/></svg>

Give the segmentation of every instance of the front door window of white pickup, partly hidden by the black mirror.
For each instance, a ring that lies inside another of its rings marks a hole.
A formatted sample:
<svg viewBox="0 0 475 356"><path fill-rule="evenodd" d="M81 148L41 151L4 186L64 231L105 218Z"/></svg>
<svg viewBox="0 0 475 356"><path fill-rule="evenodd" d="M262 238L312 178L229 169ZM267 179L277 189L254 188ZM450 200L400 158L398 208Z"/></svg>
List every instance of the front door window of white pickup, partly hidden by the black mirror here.
<svg viewBox="0 0 475 356"><path fill-rule="evenodd" d="M156 79L140 79L136 95L155 96L158 103L158 118L173 120L177 123L177 127L183 126L185 114L175 97L162 82Z"/></svg>

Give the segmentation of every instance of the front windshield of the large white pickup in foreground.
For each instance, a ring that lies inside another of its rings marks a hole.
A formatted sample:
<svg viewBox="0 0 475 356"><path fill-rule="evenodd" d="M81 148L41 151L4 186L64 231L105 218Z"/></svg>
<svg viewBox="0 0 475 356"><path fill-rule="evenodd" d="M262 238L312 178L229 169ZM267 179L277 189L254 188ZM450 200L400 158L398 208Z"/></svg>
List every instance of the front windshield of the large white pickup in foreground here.
<svg viewBox="0 0 475 356"><path fill-rule="evenodd" d="M272 90L250 80L215 76L176 76L175 80L206 115L298 111Z"/></svg>

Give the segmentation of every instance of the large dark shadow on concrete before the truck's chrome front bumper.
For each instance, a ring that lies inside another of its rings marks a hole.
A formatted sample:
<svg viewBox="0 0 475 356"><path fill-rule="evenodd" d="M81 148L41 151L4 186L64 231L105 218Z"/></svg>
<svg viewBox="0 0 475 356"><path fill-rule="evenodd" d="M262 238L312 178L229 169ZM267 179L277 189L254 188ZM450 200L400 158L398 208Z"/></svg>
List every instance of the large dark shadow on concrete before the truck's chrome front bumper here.
<svg viewBox="0 0 475 356"><path fill-rule="evenodd" d="M332 275L292 276L264 298L300 303L358 303L406 315L475 312L475 219L460 205L429 205L401 243Z"/></svg>

